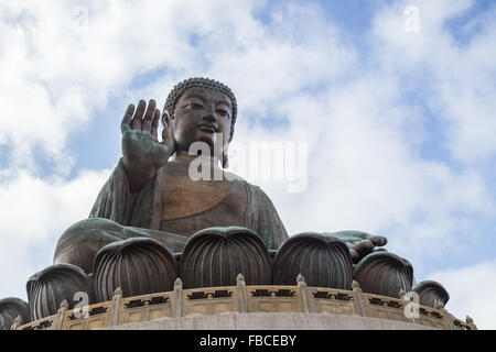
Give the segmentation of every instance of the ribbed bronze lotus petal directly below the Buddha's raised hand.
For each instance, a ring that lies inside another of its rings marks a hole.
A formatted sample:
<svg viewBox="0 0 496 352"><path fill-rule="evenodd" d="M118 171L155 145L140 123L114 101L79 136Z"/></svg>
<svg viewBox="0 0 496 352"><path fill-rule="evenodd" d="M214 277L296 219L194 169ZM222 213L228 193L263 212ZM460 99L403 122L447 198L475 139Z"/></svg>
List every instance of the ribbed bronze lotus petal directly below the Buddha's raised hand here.
<svg viewBox="0 0 496 352"><path fill-rule="evenodd" d="M132 238L104 246L94 263L97 301L111 300L117 287L123 297L171 290L177 263L165 245L149 238Z"/></svg>

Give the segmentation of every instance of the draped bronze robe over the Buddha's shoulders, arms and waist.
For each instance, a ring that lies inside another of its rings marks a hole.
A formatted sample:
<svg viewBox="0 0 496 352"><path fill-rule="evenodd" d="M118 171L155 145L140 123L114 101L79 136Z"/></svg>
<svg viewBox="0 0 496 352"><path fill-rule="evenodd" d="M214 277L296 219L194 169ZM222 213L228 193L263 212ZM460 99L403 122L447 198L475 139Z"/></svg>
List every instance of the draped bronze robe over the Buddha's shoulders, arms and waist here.
<svg viewBox="0 0 496 352"><path fill-rule="evenodd" d="M251 229L270 250L277 250L288 238L269 197L240 177L235 177L227 195L209 209L163 219L163 199L168 197L162 190L165 173L165 167L160 168L140 193L132 195L122 161L119 161L101 188L89 218L104 218L123 227L139 228L141 232L165 241L172 251L181 251L188 237L209 227L238 226ZM160 235L159 231L164 233Z"/></svg>

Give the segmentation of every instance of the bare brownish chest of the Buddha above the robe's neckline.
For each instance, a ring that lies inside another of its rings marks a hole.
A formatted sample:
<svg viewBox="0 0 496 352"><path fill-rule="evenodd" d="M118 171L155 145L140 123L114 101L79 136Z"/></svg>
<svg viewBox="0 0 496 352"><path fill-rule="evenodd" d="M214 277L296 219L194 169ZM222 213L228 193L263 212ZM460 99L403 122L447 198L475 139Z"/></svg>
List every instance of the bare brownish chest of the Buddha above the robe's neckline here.
<svg viewBox="0 0 496 352"><path fill-rule="evenodd" d="M229 180L193 180L182 165L166 165L160 174L161 220L193 216L214 208L233 190ZM236 195L230 195L236 198ZM236 199L235 199L236 202Z"/></svg>

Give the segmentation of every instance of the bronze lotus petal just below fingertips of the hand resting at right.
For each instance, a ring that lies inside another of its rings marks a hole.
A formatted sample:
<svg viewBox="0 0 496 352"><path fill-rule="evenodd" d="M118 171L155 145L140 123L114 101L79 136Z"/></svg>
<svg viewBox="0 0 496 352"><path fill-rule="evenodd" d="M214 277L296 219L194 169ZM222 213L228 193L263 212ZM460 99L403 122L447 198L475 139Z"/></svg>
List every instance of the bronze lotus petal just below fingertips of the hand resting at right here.
<svg viewBox="0 0 496 352"><path fill-rule="evenodd" d="M399 298L400 289L411 290L413 267L396 254L375 252L355 266L354 279L365 293Z"/></svg>

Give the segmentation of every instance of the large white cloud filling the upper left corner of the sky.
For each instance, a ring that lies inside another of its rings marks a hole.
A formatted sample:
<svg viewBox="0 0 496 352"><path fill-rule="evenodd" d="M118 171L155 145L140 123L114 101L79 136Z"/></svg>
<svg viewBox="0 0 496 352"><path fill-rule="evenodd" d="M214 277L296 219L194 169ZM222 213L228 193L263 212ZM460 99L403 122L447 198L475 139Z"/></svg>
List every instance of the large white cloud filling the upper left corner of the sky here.
<svg viewBox="0 0 496 352"><path fill-rule="evenodd" d="M39 146L64 163L69 134L110 96L123 96L137 75L157 67L197 66L202 57L190 36L242 28L254 3L89 1L87 26L79 26L85 20L74 12L79 6L0 4L0 143L12 147L13 165L33 167L32 150Z"/></svg>

